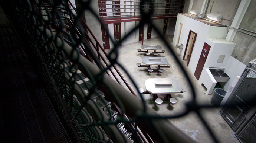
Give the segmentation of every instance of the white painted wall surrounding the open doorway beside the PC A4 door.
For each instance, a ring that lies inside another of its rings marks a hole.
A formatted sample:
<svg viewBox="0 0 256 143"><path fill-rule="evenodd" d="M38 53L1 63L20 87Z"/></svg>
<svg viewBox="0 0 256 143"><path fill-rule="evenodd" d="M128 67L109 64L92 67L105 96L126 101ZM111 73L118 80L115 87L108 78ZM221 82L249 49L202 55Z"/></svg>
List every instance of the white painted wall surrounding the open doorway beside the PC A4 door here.
<svg viewBox="0 0 256 143"><path fill-rule="evenodd" d="M228 28L227 27L210 26L210 25L204 24L203 22L200 22L200 21L194 20L190 17L187 17L183 14L178 14L177 22L176 22L176 26L175 26L174 37L173 37L173 46L175 46L178 43L180 23L183 24L183 27L181 30L179 44L182 43L184 45L184 47L182 50L177 49L177 52L180 53L181 57L183 57L183 54L184 54L184 51L186 48L189 31L191 30L191 31L197 33L196 41L194 43L194 48L193 48L190 62L188 65L190 70L194 73L196 71L197 63L198 63L201 51L203 49L204 42L206 42L206 38L207 37L225 38ZM210 50L210 52L211 52L211 50ZM209 53L209 55L210 55L210 53Z"/></svg>

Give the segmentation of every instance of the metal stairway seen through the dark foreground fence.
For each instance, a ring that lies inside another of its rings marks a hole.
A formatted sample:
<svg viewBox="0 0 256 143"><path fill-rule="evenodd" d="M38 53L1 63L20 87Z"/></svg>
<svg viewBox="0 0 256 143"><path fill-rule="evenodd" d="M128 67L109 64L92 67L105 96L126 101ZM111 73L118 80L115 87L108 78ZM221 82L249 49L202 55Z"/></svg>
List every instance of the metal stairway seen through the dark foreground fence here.
<svg viewBox="0 0 256 143"><path fill-rule="evenodd" d="M70 62L69 60L66 60L66 63L69 63L69 62ZM66 64L65 70L69 73L70 76L72 75L71 72L75 71L74 68L70 69L70 66L68 64ZM76 73L77 73L75 76L76 83L79 84L80 87L82 87L82 89L85 91L85 93L89 93L89 90L93 87L93 83L79 69L76 70ZM95 94L95 93L97 93L97 94ZM101 109L102 111L104 111L104 113L108 116L109 119L111 119L111 121L116 123L117 128L121 131L121 133L131 143L134 142L134 139L137 140L135 138L135 136L133 136L134 134L131 133L131 130L129 130L127 123L122 123L122 122L117 123L118 122L117 118L118 118L118 116L121 116L121 115L118 113L115 105L106 98L106 96L104 95L104 93L101 90L96 89L95 93L92 94L90 98L93 101L95 101L98 108ZM81 102L79 102L77 100L77 97L73 98L73 106L74 106L74 108L72 108L71 114L73 115L73 118L74 118L76 115L76 111L79 110L79 107L81 106ZM90 115L89 112L85 108L82 109L82 112L80 112L79 115L82 118L74 119L74 122L76 122L76 124L85 124L85 121L88 121L88 118L91 119L91 121L88 122L88 125L92 122L95 122L95 120L93 120L93 118L92 118L92 115ZM87 129L83 128L83 126L79 127L78 133L81 134L80 138L83 140L87 140L88 138L91 138L89 136L83 135L83 133L86 133L86 130ZM111 139L109 139L109 137L108 137L107 133L104 131L104 129L99 127L99 130L98 130L98 132L101 132L105 136L105 137L103 137L103 139L100 139L102 142L113 142ZM91 136L93 136L93 134L91 134ZM89 141L89 140L87 140L87 141ZM138 140L137 140L137 142L138 142Z"/></svg>

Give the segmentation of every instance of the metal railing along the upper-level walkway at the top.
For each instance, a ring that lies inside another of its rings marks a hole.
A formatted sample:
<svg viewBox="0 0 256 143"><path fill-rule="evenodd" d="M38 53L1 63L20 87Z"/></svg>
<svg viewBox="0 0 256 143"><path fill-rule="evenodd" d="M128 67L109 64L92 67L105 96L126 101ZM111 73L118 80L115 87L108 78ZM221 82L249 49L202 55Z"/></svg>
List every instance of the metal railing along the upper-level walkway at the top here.
<svg viewBox="0 0 256 143"><path fill-rule="evenodd" d="M98 0L100 18L140 17L142 13L151 16L170 16L183 12L183 0Z"/></svg>

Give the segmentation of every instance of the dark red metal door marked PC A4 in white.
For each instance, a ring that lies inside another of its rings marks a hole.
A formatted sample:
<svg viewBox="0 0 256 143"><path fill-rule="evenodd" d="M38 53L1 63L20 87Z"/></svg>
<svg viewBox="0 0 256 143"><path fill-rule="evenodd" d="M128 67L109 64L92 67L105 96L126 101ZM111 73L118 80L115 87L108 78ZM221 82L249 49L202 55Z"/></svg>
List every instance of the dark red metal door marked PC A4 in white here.
<svg viewBox="0 0 256 143"><path fill-rule="evenodd" d="M196 77L197 80L199 80L199 77L202 73L204 63L207 59L210 48L211 48L211 46L209 46L207 43L204 43L203 50L201 52L200 58L197 63L196 71L194 73L194 76Z"/></svg>

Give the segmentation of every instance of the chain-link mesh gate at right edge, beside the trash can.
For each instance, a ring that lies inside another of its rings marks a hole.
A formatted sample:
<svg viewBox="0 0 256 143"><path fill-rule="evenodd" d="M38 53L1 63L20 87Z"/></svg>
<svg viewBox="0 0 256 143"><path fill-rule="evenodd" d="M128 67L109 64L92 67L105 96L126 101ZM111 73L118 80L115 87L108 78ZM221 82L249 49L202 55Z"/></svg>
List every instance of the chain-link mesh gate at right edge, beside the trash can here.
<svg viewBox="0 0 256 143"><path fill-rule="evenodd" d="M255 141L255 117L252 117L256 100L256 67L249 63L230 97L230 106L223 107L222 116L230 127L238 132L240 142ZM254 111L255 112L255 111ZM250 114L250 115L249 115ZM248 122L248 123L247 123ZM244 125L247 123L247 125ZM242 130L242 131L241 131Z"/></svg>

